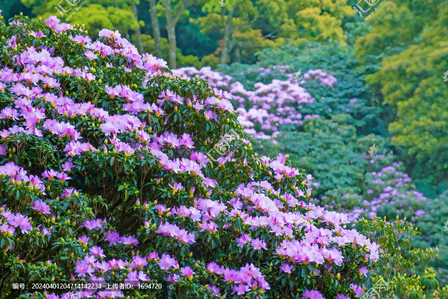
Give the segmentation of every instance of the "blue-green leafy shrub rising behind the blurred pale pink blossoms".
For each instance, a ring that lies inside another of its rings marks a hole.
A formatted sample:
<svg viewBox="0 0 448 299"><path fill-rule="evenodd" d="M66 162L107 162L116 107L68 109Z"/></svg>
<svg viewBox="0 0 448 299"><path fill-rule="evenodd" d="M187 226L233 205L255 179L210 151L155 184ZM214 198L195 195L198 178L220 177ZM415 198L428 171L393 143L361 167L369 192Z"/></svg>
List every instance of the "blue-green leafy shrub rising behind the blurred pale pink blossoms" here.
<svg viewBox="0 0 448 299"><path fill-rule="evenodd" d="M359 24L355 27L358 30ZM376 103L364 80L368 74L366 69L376 69L377 66L360 64L353 51L351 46L341 46L337 42L285 40L276 48L261 50L256 64L233 63L221 65L218 70L231 76L232 83L240 82L246 90L253 90L259 82L268 85L274 79L292 79L301 70L304 79L298 84L315 99L311 104L298 107L302 115L318 114L321 118L330 119L334 114L347 113L351 116L347 124L355 126L358 134L385 134L388 120L391 120L387 112L390 109ZM279 62L284 65L279 66ZM325 72L331 75L329 79L333 77L337 81L333 79L334 83L329 86L319 80L324 76L313 76L313 72ZM307 73L312 80L306 78Z"/></svg>

